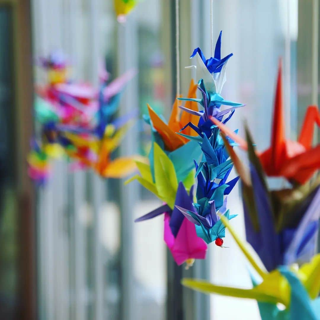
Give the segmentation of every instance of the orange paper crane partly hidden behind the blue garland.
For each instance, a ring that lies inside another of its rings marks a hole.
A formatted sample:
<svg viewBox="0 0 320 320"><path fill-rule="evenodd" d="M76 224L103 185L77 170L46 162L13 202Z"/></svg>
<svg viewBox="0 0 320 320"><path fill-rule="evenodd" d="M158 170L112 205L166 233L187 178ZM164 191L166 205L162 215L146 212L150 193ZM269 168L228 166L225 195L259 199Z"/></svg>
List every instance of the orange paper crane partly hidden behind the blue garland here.
<svg viewBox="0 0 320 320"><path fill-rule="evenodd" d="M196 98L196 89L197 85L194 84L193 80L191 80L188 98ZM185 107L191 110L198 111L197 103L194 101L187 101ZM189 141L187 138L178 135L176 132L179 132L189 122L197 124L199 121L199 116L191 115L185 111L182 111L181 113L180 109L178 108L177 99L174 101L174 104L172 106L172 112L168 124L164 123L163 120L153 111L153 109L149 105L148 110L152 124L163 139L165 149L168 151L176 150ZM197 133L190 127L185 128L182 133L189 136L197 135Z"/></svg>

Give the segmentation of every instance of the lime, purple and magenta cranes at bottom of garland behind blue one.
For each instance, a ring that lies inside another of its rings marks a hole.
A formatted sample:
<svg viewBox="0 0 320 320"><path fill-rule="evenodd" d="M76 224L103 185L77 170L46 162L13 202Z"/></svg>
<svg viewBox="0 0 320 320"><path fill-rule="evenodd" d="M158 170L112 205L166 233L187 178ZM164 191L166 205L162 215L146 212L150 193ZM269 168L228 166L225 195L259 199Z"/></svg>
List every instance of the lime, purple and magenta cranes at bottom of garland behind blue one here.
<svg viewBox="0 0 320 320"><path fill-rule="evenodd" d="M152 178L150 165L136 162L141 176L136 175L126 183L138 180L165 204L136 219L135 222L152 219L164 213L164 240L177 264L180 265L187 260L191 264L192 259L204 259L206 244L196 236L194 224L185 219L175 207L184 206L190 211L195 211L192 205L194 179L187 176L184 182L178 183L175 166L169 156L156 143L153 152L155 180ZM187 190L190 190L189 194Z"/></svg>

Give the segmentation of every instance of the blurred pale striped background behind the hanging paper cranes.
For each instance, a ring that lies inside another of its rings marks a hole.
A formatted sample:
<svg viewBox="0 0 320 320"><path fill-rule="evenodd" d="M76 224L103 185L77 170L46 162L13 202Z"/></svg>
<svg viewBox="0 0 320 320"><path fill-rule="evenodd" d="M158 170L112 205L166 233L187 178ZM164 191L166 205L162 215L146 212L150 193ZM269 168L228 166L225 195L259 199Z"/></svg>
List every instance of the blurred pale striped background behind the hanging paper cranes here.
<svg viewBox="0 0 320 320"><path fill-rule="evenodd" d="M222 95L246 104L229 127L243 134L245 119L258 148L269 145L282 57L286 130L295 138L306 107L318 104L318 0L214 0L213 8L214 41L223 30L222 54L234 53ZM125 24L111 0L0 0L1 319L259 319L254 301L205 296L182 289L176 278L249 287L245 261L228 235L230 248L209 246L208 258L187 271L167 252L163 218L133 223L159 206L136 182L69 172L62 160L45 187L35 188L27 175L33 85L44 78L35 58L61 49L72 77L92 83L101 59L114 78L137 68L120 113L140 114L118 152L145 155L146 103L168 116L175 96L175 15L170 0L141 0ZM181 0L184 96L194 76L184 67L198 46L210 55L210 1ZM229 204L244 237L237 190Z"/></svg>

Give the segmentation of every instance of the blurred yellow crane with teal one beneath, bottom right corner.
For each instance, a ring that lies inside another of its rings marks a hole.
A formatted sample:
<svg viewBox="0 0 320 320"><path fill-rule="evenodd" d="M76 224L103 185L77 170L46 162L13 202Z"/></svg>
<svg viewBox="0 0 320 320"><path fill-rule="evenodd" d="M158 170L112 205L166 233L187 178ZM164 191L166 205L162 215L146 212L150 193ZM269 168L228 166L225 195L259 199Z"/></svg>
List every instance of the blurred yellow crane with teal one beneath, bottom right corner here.
<svg viewBox="0 0 320 320"><path fill-rule="evenodd" d="M204 293L217 293L230 297L249 298L258 301L260 315L263 320L300 320L320 319L320 300L317 298L320 291L320 254L310 263L306 263L299 270L280 266L270 273L260 268L259 264L248 252L245 244L238 238L228 220L221 217L224 225L229 229L236 243L247 257L252 267L262 278L258 283L253 280L252 289L232 288L210 284L206 281L183 279L182 284L191 289ZM281 303L284 310L278 308Z"/></svg>

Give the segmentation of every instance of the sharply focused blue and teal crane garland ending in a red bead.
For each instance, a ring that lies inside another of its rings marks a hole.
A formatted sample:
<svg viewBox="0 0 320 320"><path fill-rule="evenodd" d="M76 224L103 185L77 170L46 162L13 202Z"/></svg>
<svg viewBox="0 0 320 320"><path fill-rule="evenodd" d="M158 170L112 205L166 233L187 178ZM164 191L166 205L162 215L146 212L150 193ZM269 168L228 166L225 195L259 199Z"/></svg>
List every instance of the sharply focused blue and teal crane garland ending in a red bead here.
<svg viewBox="0 0 320 320"><path fill-rule="evenodd" d="M179 210L188 220L196 225L198 236L203 238L207 244L214 241L218 246L222 246L222 238L225 236L225 228L221 224L220 216L225 215L228 219L236 217L236 215L230 215L229 210L226 208L226 196L230 193L239 178L236 177L227 182L233 167L232 160L228 159L229 155L219 136L219 129L212 125L210 118L213 116L223 121L223 123L226 123L234 114L235 109L243 106L241 103L225 100L219 94L222 89L222 83L219 79L225 79L226 64L232 56L232 54L229 54L226 58L220 60L220 46L221 32L216 44L214 58L205 60L199 48L195 49L194 54L191 56L193 57L198 53L198 55L202 57L206 67L205 74L209 72L210 76L212 76L211 82L209 83L211 89L208 91L204 80L200 79L198 89L202 94L202 99L178 98L179 100L199 103L204 108L203 111L196 111L180 106L182 110L198 116L198 119L195 123L191 121L188 122L188 124L182 128L182 130L186 128L192 129L197 133L196 136L188 136L182 132L179 134L184 138L198 141L201 145L203 156L199 165L195 162L198 183L196 191L197 201L193 205L196 208L196 212L181 207L179 207ZM203 69L203 66L200 68ZM197 67L197 70L198 69L199 66ZM215 79L217 79L217 82ZM218 84L219 93L217 92ZM222 105L230 106L230 108L221 110ZM226 116L226 118L223 120L224 116ZM233 141L231 141L231 143L236 145Z"/></svg>

